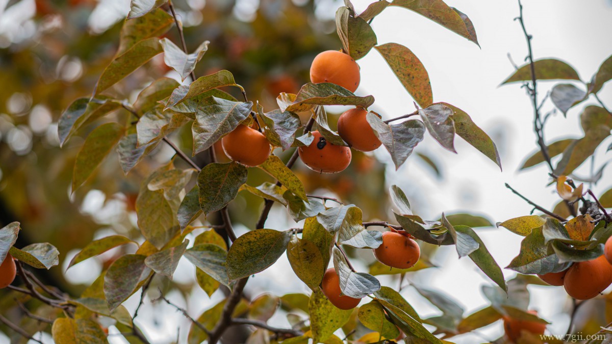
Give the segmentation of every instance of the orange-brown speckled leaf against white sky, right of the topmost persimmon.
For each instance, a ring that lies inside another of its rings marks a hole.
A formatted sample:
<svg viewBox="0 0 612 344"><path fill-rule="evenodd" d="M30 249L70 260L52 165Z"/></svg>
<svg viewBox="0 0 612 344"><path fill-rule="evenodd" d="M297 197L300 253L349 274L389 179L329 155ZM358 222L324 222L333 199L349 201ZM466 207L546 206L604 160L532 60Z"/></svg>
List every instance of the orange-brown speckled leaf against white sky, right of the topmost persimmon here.
<svg viewBox="0 0 612 344"><path fill-rule="evenodd" d="M392 5L397 2L395 0ZM453 12L453 15L457 16L457 13ZM461 24L463 24L463 21L461 21ZM412 51L397 43L386 43L374 48L383 56L395 73L395 77L400 80L406 91L421 107L427 107L427 105L433 103L427 69Z"/></svg>

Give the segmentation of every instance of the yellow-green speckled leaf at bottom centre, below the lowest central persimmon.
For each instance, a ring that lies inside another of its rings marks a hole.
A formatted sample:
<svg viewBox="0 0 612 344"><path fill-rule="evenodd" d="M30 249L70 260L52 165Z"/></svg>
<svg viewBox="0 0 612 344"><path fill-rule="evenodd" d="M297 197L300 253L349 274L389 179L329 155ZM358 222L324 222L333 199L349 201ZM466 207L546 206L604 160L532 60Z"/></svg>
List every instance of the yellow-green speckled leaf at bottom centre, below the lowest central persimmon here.
<svg viewBox="0 0 612 344"><path fill-rule="evenodd" d="M310 330L315 343L323 343L349 320L353 310L341 310L332 305L327 297L315 290L308 301Z"/></svg>

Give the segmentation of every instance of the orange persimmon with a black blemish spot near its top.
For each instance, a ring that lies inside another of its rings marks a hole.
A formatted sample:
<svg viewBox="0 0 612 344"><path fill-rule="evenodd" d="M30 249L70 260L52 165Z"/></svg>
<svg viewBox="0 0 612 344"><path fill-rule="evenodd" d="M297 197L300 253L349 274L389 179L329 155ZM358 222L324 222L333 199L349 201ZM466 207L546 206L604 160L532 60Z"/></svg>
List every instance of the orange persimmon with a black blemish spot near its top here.
<svg viewBox="0 0 612 344"><path fill-rule="evenodd" d="M312 132L315 140L310 146L297 149L302 162L311 170L319 173L337 173L345 170L351 163L351 149L327 142L319 132Z"/></svg>

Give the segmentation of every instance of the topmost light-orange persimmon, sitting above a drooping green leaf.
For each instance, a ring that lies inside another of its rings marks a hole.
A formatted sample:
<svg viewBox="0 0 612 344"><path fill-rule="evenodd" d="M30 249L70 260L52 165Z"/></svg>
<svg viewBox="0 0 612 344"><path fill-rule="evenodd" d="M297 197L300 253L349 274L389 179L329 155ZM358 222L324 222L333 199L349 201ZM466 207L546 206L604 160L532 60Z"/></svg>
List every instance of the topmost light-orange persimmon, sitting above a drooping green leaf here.
<svg viewBox="0 0 612 344"><path fill-rule="evenodd" d="M360 79L357 62L341 51L323 51L310 65L310 81L315 84L334 83L355 92Z"/></svg>

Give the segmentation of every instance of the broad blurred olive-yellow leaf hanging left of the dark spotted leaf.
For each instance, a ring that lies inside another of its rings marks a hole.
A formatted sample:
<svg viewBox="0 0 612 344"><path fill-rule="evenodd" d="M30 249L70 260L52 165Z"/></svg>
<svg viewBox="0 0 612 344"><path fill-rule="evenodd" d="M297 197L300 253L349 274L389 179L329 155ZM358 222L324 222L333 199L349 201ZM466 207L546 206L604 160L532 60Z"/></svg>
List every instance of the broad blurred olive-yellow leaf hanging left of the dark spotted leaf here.
<svg viewBox="0 0 612 344"><path fill-rule="evenodd" d="M138 228L140 228L145 239L157 249L162 249L180 231L174 202L165 197L163 190L152 191L148 187L149 182L155 176L168 171L170 168L171 166L163 166L152 173L141 184L140 193L136 198Z"/></svg>

